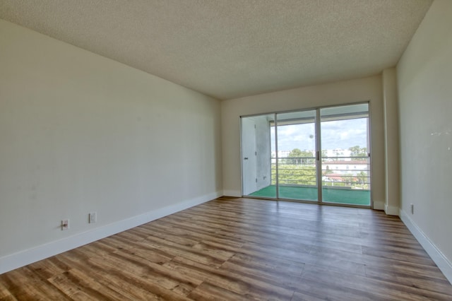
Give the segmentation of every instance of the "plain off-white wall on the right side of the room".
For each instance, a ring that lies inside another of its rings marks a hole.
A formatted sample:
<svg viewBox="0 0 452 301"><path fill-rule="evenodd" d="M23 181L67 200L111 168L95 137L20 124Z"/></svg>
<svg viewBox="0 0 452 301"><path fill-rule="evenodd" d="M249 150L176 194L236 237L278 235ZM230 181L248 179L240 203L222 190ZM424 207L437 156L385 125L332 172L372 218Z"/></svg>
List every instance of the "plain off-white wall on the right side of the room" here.
<svg viewBox="0 0 452 301"><path fill-rule="evenodd" d="M397 65L400 216L452 282L452 1L435 0ZM415 206L410 213L410 203ZM435 255L436 253L436 255Z"/></svg>

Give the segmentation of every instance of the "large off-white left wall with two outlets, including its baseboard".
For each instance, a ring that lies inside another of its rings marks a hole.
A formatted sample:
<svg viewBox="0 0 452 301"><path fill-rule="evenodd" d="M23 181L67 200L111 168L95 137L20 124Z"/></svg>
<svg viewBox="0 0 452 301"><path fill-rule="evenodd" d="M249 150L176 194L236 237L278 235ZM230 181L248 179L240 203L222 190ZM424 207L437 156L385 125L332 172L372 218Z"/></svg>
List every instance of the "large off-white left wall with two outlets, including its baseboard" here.
<svg viewBox="0 0 452 301"><path fill-rule="evenodd" d="M218 100L0 20L0 273L220 196L220 134Z"/></svg>

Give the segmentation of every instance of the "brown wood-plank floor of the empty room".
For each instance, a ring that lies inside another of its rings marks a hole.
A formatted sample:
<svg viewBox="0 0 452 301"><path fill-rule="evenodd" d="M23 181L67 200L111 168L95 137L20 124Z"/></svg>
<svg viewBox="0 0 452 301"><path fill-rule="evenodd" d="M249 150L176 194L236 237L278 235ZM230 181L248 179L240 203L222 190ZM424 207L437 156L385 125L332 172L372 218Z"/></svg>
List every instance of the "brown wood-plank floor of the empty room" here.
<svg viewBox="0 0 452 301"><path fill-rule="evenodd" d="M0 275L0 300L452 300L399 218L220 198Z"/></svg>

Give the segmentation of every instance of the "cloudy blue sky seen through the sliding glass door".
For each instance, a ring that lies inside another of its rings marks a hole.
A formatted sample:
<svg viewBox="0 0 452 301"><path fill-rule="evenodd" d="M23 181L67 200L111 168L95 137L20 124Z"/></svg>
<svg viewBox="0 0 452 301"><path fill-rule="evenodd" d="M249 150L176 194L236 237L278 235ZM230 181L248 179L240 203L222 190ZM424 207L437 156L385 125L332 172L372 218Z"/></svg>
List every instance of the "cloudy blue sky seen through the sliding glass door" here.
<svg viewBox="0 0 452 301"><path fill-rule="evenodd" d="M299 148L304 151L315 150L314 124L294 124L278 126L278 151L292 151ZM321 122L322 149L343 148L352 146L367 147L367 118ZM271 131L274 141L275 133ZM272 149L274 151L274 143Z"/></svg>

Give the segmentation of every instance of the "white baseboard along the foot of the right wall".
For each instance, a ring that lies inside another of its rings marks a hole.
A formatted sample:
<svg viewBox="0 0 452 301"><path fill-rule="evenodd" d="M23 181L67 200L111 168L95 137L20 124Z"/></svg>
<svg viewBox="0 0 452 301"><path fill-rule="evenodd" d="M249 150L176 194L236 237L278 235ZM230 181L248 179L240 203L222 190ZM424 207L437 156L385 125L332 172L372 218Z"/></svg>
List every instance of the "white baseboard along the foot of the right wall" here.
<svg viewBox="0 0 452 301"><path fill-rule="evenodd" d="M449 261L444 254L441 253L441 251L436 247L436 245L429 240L429 237L424 235L424 232L413 222L413 220L408 216L405 211L401 210L399 211L400 219L405 223L408 230L414 235L417 239L417 241L422 245L425 252L429 254L429 256L432 258L436 266L439 267L441 272L444 273L444 276L446 276L447 280L452 284L452 263Z"/></svg>

